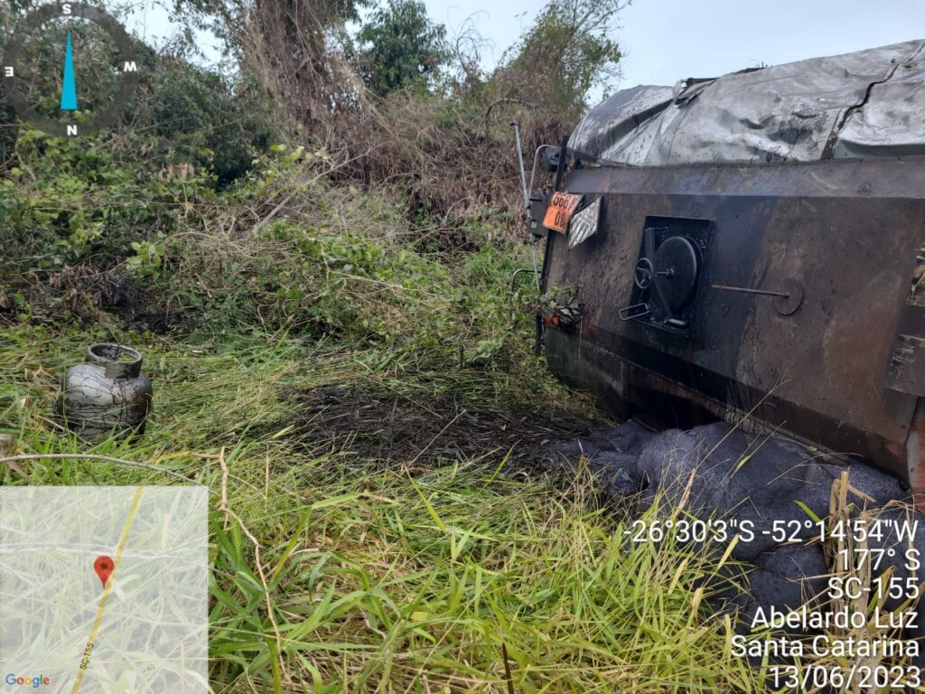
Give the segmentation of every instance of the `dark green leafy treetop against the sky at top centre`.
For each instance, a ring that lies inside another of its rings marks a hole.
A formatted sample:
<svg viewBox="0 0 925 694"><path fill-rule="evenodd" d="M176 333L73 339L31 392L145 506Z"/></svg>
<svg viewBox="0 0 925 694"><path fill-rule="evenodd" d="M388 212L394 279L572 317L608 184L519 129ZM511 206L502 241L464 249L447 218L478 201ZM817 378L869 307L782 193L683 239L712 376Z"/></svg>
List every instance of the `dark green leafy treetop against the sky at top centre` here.
<svg viewBox="0 0 925 694"><path fill-rule="evenodd" d="M423 2L389 0L357 33L357 68L379 95L425 85L447 62L446 27L427 17Z"/></svg>

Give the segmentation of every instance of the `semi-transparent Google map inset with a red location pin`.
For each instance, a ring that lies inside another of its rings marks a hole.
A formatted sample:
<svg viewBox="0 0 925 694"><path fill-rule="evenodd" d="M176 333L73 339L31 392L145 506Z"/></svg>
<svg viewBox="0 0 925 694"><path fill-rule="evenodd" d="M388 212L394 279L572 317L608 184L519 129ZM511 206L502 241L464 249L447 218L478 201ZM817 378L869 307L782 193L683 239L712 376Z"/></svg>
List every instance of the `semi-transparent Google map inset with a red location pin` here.
<svg viewBox="0 0 925 694"><path fill-rule="evenodd" d="M0 692L207 692L207 501L0 487Z"/></svg>

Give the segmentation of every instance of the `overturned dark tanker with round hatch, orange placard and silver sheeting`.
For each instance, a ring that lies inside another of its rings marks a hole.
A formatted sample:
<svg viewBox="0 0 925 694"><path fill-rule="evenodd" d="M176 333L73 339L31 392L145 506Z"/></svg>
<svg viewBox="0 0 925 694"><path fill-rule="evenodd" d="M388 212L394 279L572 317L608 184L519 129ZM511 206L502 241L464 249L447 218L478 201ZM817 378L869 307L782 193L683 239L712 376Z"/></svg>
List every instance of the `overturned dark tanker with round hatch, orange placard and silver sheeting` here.
<svg viewBox="0 0 925 694"><path fill-rule="evenodd" d="M627 89L540 150L553 372L925 492L925 41Z"/></svg>

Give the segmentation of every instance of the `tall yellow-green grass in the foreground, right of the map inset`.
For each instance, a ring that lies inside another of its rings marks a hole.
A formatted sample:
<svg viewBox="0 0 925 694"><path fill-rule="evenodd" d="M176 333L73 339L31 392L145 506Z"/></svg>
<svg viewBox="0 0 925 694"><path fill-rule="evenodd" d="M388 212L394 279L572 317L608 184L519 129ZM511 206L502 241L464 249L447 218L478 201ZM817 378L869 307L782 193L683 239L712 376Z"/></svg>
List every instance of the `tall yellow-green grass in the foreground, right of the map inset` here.
<svg viewBox="0 0 925 694"><path fill-rule="evenodd" d="M484 467L362 481L267 508L276 626L259 577L240 574L247 541L214 528L216 568L240 576L216 585L219 689L262 675L293 691L750 690L746 663L725 655L728 617L703 611L715 557L630 543L584 499Z"/></svg>

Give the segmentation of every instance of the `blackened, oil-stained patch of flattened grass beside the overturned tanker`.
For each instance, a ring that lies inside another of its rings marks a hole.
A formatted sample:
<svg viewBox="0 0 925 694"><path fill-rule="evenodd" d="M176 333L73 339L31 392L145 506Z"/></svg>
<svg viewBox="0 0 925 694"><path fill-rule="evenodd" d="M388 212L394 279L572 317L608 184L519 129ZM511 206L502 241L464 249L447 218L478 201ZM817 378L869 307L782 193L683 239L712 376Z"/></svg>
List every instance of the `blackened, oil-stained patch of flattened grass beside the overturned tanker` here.
<svg viewBox="0 0 925 694"><path fill-rule="evenodd" d="M428 469L483 460L529 469L557 443L585 436L601 421L547 406L516 412L441 395L412 397L381 386L332 385L291 394L288 438L310 455L353 465ZM351 465L352 466L352 465Z"/></svg>

